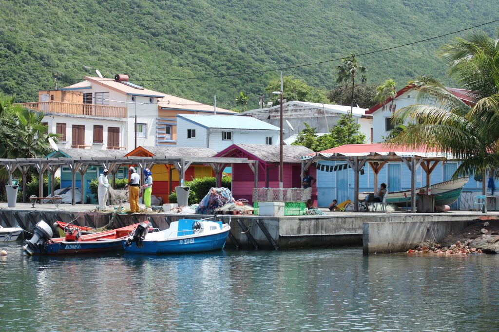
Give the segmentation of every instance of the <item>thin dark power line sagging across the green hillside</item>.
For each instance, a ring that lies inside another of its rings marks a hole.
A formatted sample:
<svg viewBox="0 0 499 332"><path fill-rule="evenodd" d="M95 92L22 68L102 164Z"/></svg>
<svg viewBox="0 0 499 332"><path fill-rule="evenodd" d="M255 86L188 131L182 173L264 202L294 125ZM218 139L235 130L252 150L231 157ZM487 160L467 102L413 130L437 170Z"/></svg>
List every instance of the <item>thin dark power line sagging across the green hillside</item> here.
<svg viewBox="0 0 499 332"><path fill-rule="evenodd" d="M378 49L378 50L374 50L374 51L370 51L370 52L356 54L356 56L359 57L359 56L364 56L364 55L370 55L370 54L384 52L384 51L388 51L388 50L392 50L392 49L396 49L396 48L400 48L400 47L415 45L415 44L419 44L419 43L422 43L422 42L425 42L425 41L429 41L429 40L433 40L433 39L438 39L438 38L442 38L442 37L445 37L445 36L449 36L451 34L456 34L456 33L459 33L459 32L463 32L463 31L475 29L477 27L481 27L481 26L484 26L484 25L492 24L492 23L495 23L495 22L498 22L498 21L499 21L499 19L495 19L495 20L490 21L490 22L486 22L486 23L474 25L474 26L471 26L471 27L467 27L467 28L464 28L464 29L461 29L461 30L457 30L457 31L453 31L453 32L448 32L448 33L441 34L441 35L438 35L438 36L434 36L434 37L430 37L430 38L426 38L426 39L421 39L421 40L418 40L418 41L413 41L413 42L410 42L410 43L405 43L405 44L401 44L401 45L397 45L397 46L382 48L382 49ZM198 76L198 77L188 77L188 78L165 78L165 79L148 79L148 80L143 79L143 80L135 80L135 81L136 82L166 82L166 81L198 80L198 79L206 79L206 78L234 77L234 76L242 76L242 75L261 74L261 73L266 73L266 72L271 72L271 71L287 70L287 69L300 68L300 67L306 67L306 66L314 66L314 65L318 65L318 64L323 64L323 63L328 63L328 62L342 60L342 59L345 59L345 58L348 58L348 55L347 56L342 56L342 57L339 57L339 58L335 58L335 59L325 60L325 61L319 61L319 62L313 62L313 63L306 63L306 64L301 64L301 65L281 67L281 68L274 68L274 69L250 71L250 72L244 72L244 73L210 75L210 76ZM76 79L67 79L67 80L76 80ZM106 80L95 79L94 81L108 81L108 80L109 79L106 79Z"/></svg>

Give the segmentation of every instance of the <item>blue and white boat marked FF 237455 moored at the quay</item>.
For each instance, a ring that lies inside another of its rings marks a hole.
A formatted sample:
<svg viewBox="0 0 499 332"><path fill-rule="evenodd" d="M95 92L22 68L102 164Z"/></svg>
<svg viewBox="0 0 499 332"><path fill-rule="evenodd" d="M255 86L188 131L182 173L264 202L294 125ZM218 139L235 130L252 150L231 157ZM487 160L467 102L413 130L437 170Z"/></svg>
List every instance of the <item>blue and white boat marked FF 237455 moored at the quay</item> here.
<svg viewBox="0 0 499 332"><path fill-rule="evenodd" d="M170 228L148 232L147 226L137 227L123 241L125 252L140 254L189 253L221 250L225 246L231 226L222 221L180 219Z"/></svg>

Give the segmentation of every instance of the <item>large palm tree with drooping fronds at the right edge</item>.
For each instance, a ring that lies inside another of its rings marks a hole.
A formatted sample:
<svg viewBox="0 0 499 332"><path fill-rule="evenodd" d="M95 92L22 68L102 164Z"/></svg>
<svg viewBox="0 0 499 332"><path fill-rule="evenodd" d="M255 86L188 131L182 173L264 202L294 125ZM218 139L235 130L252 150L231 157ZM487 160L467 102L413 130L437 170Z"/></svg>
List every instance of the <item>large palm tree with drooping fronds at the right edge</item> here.
<svg viewBox="0 0 499 332"><path fill-rule="evenodd" d="M390 143L428 146L462 161L454 176L499 168L498 38L479 31L441 47L448 73L464 90L449 90L429 77L414 82L419 104L402 108L394 121L409 126ZM454 92L454 93L453 93ZM456 96L456 92L460 97Z"/></svg>

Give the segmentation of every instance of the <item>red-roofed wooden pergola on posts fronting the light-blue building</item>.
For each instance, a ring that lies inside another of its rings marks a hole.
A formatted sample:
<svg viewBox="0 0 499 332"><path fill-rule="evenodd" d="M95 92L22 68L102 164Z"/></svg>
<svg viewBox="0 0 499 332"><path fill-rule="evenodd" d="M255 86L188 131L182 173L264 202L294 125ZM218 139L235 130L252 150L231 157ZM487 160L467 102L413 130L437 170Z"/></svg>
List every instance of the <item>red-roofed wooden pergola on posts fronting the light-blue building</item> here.
<svg viewBox="0 0 499 332"><path fill-rule="evenodd" d="M431 184L431 173L439 163L454 160L451 155L428 152L426 147L409 148L383 144L355 144L325 150L314 156L302 157L302 168L321 160L346 162L354 172L354 209L359 208L359 172L369 164L374 172L374 192L378 189L378 174L387 163L403 162L411 171L411 212L416 212L416 169L426 173L426 186Z"/></svg>

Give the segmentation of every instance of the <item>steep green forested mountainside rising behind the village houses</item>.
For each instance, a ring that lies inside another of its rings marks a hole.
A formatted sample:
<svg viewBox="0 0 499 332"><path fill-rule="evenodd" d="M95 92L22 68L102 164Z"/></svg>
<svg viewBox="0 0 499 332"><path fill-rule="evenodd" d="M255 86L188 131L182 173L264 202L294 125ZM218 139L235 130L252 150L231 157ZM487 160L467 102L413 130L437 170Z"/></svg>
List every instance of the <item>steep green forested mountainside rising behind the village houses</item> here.
<svg viewBox="0 0 499 332"><path fill-rule="evenodd" d="M497 0L0 0L0 90L34 101L39 89L84 75L130 75L167 94L250 108L278 71L361 54L498 18ZM497 23L481 29L493 33ZM463 33L464 34L464 33ZM459 34L457 34L459 35ZM417 75L452 85L435 53L456 35L359 56L369 83ZM308 85L336 86L340 61L284 70ZM246 74L249 72L258 72ZM202 78L241 74L223 78Z"/></svg>

